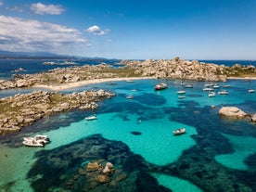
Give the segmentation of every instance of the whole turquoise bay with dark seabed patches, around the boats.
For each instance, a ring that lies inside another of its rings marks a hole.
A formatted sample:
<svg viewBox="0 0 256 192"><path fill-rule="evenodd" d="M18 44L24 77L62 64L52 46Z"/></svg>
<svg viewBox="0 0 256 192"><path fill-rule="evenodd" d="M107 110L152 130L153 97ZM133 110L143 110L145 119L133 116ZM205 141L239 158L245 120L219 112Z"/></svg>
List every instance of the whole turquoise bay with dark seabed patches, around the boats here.
<svg viewBox="0 0 256 192"><path fill-rule="evenodd" d="M156 83L167 83L161 91ZM97 83L63 91L105 89L95 111L45 117L17 134L0 137L0 191L256 191L256 123L219 117L224 106L256 113L251 83L230 80L229 95L208 97L202 82L178 98L181 82L138 80ZM227 83L219 83L222 86ZM0 97L34 89L0 92ZM133 99L126 96L133 95ZM212 108L214 106L215 108ZM97 120L84 117L96 113ZM173 135L185 127L186 134ZM45 147L24 147L24 136L47 134ZM84 167L111 162L116 172L98 184Z"/></svg>

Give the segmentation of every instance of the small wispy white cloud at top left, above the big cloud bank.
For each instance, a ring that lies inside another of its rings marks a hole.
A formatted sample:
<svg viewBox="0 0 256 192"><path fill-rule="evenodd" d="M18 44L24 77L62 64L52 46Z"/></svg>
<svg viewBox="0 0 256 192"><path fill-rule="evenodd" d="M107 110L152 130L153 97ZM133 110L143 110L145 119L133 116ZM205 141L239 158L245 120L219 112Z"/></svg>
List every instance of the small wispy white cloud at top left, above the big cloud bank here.
<svg viewBox="0 0 256 192"><path fill-rule="evenodd" d="M45 5L42 3L32 4L31 9L35 14L38 15L59 15L65 10L62 6Z"/></svg>

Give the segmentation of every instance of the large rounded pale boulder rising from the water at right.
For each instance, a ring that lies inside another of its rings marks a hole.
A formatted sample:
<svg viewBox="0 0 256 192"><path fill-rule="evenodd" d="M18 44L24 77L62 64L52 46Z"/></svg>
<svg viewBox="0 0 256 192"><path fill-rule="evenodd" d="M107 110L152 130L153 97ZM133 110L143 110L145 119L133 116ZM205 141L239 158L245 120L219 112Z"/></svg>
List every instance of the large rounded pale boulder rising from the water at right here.
<svg viewBox="0 0 256 192"><path fill-rule="evenodd" d="M235 119L250 118L250 114L247 114L243 110L238 109L236 107L223 107L219 110L219 115L222 117Z"/></svg>

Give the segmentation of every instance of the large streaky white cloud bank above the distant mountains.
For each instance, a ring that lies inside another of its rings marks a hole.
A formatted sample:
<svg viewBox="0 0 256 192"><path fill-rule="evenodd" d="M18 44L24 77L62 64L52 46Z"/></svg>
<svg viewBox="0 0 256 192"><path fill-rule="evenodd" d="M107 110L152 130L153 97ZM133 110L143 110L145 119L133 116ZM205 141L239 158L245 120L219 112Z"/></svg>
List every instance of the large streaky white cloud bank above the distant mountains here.
<svg viewBox="0 0 256 192"><path fill-rule="evenodd" d="M86 46L82 33L62 25L0 16L0 50L69 53Z"/></svg>

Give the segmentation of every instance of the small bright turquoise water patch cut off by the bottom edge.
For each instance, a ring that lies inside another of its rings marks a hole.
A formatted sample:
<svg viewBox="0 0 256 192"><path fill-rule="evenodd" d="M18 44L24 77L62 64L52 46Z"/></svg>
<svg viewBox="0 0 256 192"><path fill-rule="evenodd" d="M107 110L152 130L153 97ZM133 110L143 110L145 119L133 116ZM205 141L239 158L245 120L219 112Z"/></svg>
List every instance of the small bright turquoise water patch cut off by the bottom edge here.
<svg viewBox="0 0 256 192"><path fill-rule="evenodd" d="M190 182L166 174L152 173L161 186L170 188L174 192L202 192L198 186Z"/></svg>

